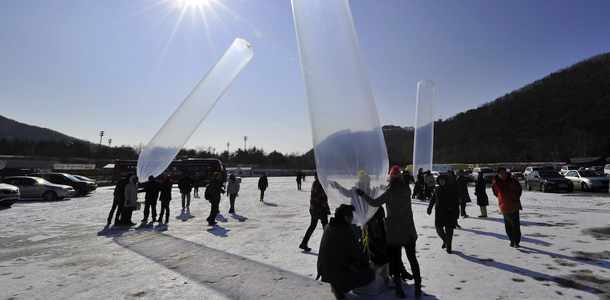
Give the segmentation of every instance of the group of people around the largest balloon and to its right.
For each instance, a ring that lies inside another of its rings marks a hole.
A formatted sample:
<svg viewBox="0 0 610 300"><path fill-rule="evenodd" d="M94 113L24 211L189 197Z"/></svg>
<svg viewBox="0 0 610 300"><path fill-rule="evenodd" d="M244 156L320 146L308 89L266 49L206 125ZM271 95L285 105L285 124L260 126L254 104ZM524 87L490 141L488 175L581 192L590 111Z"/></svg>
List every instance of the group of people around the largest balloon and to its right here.
<svg viewBox="0 0 610 300"><path fill-rule="evenodd" d="M426 173L420 169L418 177L419 175L425 177ZM430 215L432 210L435 209L434 224L436 232L442 240L441 248L446 249L449 254L452 253L453 231L456 227L459 228L458 219L460 215L463 218L468 217L466 203L471 202L464 175L464 171L460 171L456 178L453 171L448 171L438 176L436 179L438 185L434 185L434 189L429 192L430 196L428 197L430 204L427 213ZM375 257L379 259L384 254L387 257L396 296L399 298L406 297L402 289L403 280L413 279L415 281L415 296L420 297L422 295L421 272L416 256L417 231L413 221L411 189L409 186L412 180L413 177L407 171L401 172L398 166L394 166L390 171L390 182L387 188L377 198L373 199L367 195L364 188L356 189L358 196L368 205L379 207L375 216L364 227L369 227L368 232L375 232L374 226L384 229L385 243L384 239L376 241L378 245L375 245L374 249L378 251L381 249L381 255L375 253ZM425 179L423 182L425 182ZM498 168L492 183L493 194L498 198L500 211L504 217L510 247L518 248L521 240L519 221L519 211L522 209L520 202L521 185L518 180L506 172L505 168ZM329 184L333 188L340 189L334 182ZM485 189L485 181L483 178L479 178L475 187L475 195L477 205L481 209L481 215L479 215L481 218L487 217L486 207L489 205ZM420 189L420 193L425 195L427 192ZM383 204L385 204L387 210L385 219ZM354 235L353 229L350 228L350 226L354 226L352 220L355 207L342 204L336 208L334 218L331 218L328 222L327 215L330 215L328 199L318 181L317 174L311 188L309 211L311 223L299 248L304 251L311 250L307 243L318 221L320 221L324 232L320 242L317 269L322 281L330 283L335 298L344 299L345 293L372 282L374 280L374 264L372 261L369 262L369 259L363 253L363 248L365 248L363 241L359 241ZM382 226L379 224L382 224ZM370 237L370 240L375 241L375 234L371 235L373 236ZM413 274L406 271L402 262L402 249L405 250ZM381 259L381 262L383 263L384 260Z"/></svg>

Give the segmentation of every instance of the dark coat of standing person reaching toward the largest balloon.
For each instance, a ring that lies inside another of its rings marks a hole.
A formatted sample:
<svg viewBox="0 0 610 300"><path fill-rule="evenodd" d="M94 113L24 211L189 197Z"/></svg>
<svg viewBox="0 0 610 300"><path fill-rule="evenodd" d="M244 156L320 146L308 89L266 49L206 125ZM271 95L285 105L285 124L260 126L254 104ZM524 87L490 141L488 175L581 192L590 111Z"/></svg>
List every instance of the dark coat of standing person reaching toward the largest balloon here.
<svg viewBox="0 0 610 300"><path fill-rule="evenodd" d="M367 194L362 198L371 206L379 207L386 204L386 241L394 245L415 244L417 231L413 222L411 208L411 188L403 180L390 185L376 199Z"/></svg>

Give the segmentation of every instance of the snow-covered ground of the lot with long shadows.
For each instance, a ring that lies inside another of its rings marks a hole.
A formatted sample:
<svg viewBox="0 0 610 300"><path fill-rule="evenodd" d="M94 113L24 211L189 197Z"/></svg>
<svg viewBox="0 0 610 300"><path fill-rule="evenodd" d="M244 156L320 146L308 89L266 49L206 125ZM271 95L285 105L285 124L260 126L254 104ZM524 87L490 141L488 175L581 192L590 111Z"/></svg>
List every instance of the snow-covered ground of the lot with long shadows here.
<svg viewBox="0 0 610 300"><path fill-rule="evenodd" d="M237 214L227 213L223 198L213 228L205 221L209 203L193 198L181 213L176 188L168 225L137 230L106 227L114 187L15 203L0 210L0 298L333 299L330 286L314 280L321 228L312 252L298 248L309 224L310 178L297 191L293 177L270 177L264 203L257 178L244 178ZM470 193L475 199L474 186ZM520 249L509 247L488 195L490 217L476 218L478 206L469 205L472 217L460 219L453 254L440 247L428 203L414 200L423 299L610 298L608 194L524 191ZM141 218L135 211L133 221ZM412 281L405 291L413 297ZM389 288L347 296L395 299Z"/></svg>

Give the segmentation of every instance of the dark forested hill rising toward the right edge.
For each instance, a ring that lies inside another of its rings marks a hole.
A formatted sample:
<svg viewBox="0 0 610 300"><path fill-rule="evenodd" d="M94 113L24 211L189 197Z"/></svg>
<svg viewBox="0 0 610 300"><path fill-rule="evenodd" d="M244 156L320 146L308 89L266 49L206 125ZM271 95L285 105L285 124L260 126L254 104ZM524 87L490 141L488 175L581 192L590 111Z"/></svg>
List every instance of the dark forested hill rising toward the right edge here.
<svg viewBox="0 0 610 300"><path fill-rule="evenodd" d="M384 126L392 163L412 162L412 130ZM610 53L438 121L434 133L435 163L610 156Z"/></svg>

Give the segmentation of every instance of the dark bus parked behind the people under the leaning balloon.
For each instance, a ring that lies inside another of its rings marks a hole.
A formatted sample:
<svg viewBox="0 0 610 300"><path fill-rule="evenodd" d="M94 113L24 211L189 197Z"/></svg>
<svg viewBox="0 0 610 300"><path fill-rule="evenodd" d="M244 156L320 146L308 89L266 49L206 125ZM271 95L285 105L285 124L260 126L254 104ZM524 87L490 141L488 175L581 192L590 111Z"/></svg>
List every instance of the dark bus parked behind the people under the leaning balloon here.
<svg viewBox="0 0 610 300"><path fill-rule="evenodd" d="M125 177L131 172L137 174L137 160L117 160L114 163L114 171L112 172L112 182L116 183L119 179ZM199 176L203 180L202 186L207 186L214 172L220 172L223 180L226 178L226 170L220 160L215 158L189 158L187 160L174 160L167 169L157 177L158 180L163 180L166 175L172 176L172 181L178 183L184 172L189 172L191 178L195 177L195 173L199 172Z"/></svg>

